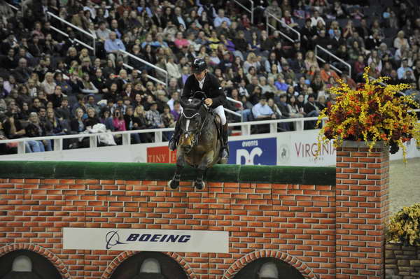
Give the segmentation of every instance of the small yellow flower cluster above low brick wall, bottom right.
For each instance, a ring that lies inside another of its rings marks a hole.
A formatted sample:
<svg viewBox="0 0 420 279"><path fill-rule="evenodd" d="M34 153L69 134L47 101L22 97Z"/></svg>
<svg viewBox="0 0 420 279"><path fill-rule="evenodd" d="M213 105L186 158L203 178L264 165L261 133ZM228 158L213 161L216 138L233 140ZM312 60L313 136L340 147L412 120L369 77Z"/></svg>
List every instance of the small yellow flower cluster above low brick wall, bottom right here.
<svg viewBox="0 0 420 279"><path fill-rule="evenodd" d="M395 213L388 221L386 240L420 246L420 203Z"/></svg>

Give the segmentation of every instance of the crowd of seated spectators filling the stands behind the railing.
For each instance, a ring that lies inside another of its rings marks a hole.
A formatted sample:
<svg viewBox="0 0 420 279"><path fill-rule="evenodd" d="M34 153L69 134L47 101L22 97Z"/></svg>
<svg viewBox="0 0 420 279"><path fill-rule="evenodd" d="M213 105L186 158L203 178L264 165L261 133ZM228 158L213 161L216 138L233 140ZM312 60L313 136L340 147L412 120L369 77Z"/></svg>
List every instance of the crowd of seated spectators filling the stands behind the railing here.
<svg viewBox="0 0 420 279"><path fill-rule="evenodd" d="M16 2L18 10L0 0L0 139L85 134L95 124L111 131L174 127L195 57L204 58L225 94L241 102L224 106L243 121L317 116L335 99L328 88L340 78L356 88L365 66L372 78L410 83L411 92L419 88L420 10L412 0L259 0L253 22L234 1ZM276 30L267 28L267 15ZM350 64L351 72L325 52L318 52L321 64L316 45ZM168 84L150 78L165 82L165 73L125 52L165 69ZM279 124L279 131L293 129L300 127ZM314 122L304 129L314 129ZM132 134L134 143L152 141L153 134ZM88 144L86 138L66 140L64 148ZM52 145L27 141L25 150ZM1 144L0 152L15 148Z"/></svg>

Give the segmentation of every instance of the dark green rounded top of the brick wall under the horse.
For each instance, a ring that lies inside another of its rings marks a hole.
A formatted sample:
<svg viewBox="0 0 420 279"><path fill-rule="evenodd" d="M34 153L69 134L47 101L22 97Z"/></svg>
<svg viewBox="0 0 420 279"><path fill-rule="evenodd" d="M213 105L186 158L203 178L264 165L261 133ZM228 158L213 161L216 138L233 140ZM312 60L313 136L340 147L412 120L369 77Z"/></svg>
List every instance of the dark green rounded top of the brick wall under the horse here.
<svg viewBox="0 0 420 279"><path fill-rule="evenodd" d="M0 178L74 178L101 180L170 180L174 164L1 161ZM194 180L186 167L181 180ZM335 185L335 167L216 165L204 181Z"/></svg>

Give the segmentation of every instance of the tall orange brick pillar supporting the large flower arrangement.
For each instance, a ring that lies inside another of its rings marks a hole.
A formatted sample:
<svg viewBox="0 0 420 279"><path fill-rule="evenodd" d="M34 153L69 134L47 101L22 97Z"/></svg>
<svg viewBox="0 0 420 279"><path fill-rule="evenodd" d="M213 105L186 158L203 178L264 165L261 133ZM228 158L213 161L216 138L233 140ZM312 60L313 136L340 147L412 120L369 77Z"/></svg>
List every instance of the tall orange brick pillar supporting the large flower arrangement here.
<svg viewBox="0 0 420 279"><path fill-rule="evenodd" d="M337 278L384 278L388 148L344 142L336 166Z"/></svg>

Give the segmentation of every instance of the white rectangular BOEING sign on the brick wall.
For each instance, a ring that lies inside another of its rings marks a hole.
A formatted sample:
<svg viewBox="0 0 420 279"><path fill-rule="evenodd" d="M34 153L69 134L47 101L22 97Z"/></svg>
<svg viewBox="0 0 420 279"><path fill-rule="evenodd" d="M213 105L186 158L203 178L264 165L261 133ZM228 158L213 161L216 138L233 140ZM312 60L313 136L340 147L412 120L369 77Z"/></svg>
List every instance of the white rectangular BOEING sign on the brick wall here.
<svg viewBox="0 0 420 279"><path fill-rule="evenodd" d="M63 248L158 252L229 252L228 231L64 228Z"/></svg>

